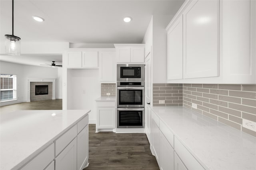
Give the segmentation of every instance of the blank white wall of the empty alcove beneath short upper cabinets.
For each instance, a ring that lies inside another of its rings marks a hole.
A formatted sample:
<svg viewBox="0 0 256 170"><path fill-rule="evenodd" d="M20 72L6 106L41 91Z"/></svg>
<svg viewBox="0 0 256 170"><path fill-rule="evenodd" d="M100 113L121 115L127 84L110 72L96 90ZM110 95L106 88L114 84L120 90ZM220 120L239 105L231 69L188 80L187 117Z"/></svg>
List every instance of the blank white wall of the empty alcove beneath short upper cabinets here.
<svg viewBox="0 0 256 170"><path fill-rule="evenodd" d="M67 70L67 109L90 109L89 123L96 123L96 99L100 97L99 69Z"/></svg>

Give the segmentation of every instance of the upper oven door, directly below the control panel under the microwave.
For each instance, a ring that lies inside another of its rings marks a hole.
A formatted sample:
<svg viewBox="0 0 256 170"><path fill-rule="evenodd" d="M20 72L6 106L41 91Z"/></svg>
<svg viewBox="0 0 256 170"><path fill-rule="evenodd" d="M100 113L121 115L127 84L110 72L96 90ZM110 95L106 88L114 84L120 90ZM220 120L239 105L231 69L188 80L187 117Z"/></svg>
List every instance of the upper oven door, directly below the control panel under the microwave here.
<svg viewBox="0 0 256 170"><path fill-rule="evenodd" d="M144 107L144 87L117 87L117 107Z"/></svg>

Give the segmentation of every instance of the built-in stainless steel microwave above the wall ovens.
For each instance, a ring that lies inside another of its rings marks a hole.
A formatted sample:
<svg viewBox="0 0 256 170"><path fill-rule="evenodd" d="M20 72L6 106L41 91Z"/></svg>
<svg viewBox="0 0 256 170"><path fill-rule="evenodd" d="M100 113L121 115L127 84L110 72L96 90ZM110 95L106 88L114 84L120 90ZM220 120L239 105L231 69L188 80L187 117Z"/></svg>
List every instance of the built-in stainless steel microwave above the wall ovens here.
<svg viewBox="0 0 256 170"><path fill-rule="evenodd" d="M144 64L117 64L117 81L144 81Z"/></svg>

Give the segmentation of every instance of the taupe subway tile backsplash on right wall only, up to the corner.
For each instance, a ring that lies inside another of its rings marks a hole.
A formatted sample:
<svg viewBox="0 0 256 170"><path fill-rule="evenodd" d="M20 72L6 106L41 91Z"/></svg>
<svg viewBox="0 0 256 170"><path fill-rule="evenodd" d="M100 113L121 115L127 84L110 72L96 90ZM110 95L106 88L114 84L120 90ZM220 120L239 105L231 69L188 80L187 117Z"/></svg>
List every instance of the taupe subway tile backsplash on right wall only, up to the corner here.
<svg viewBox="0 0 256 170"><path fill-rule="evenodd" d="M183 84L183 106L256 137L242 127L256 121L256 84Z"/></svg>

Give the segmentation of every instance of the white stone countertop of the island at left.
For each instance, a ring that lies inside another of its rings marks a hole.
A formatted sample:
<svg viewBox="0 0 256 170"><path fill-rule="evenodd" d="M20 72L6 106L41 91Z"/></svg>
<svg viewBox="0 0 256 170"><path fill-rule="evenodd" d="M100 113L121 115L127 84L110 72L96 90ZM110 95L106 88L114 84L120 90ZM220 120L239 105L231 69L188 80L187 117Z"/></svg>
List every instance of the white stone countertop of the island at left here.
<svg viewBox="0 0 256 170"><path fill-rule="evenodd" d="M0 169L17 169L90 110L22 110L0 114Z"/></svg>

